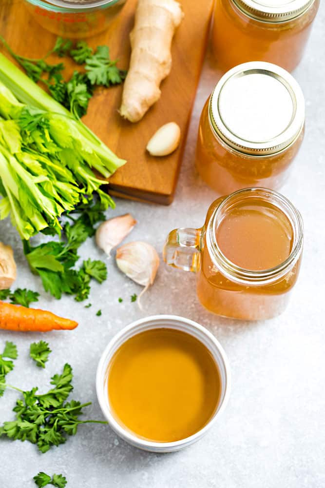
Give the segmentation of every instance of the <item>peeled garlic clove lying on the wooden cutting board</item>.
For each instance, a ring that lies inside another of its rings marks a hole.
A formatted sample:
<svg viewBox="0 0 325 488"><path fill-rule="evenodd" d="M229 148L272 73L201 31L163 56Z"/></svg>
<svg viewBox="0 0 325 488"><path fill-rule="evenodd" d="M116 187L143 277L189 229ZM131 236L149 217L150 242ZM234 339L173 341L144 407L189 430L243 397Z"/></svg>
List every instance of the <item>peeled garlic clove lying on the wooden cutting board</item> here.
<svg viewBox="0 0 325 488"><path fill-rule="evenodd" d="M162 125L147 144L147 151L152 156L167 156L177 149L181 139L181 130L176 122Z"/></svg>

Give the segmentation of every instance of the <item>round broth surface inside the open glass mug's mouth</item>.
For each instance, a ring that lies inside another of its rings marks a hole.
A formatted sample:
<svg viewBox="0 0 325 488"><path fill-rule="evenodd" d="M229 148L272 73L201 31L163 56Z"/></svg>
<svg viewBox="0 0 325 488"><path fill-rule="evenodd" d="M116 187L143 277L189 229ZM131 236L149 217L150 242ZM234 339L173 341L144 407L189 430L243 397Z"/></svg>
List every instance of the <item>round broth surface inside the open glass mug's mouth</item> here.
<svg viewBox="0 0 325 488"><path fill-rule="evenodd" d="M286 261L292 239L291 224L282 210L259 199L230 209L216 232L221 252L232 263L253 271Z"/></svg>

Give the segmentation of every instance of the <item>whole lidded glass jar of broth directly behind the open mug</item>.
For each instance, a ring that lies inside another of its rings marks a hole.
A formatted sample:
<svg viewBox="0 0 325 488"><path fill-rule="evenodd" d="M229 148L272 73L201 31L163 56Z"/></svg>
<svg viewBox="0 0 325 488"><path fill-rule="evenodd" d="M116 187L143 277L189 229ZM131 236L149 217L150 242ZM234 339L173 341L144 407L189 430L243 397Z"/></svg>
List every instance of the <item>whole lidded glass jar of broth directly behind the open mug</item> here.
<svg viewBox="0 0 325 488"><path fill-rule="evenodd" d="M249 186L277 190L287 180L304 127L304 95L286 70L261 61L235 66L203 108L197 170L221 195Z"/></svg>

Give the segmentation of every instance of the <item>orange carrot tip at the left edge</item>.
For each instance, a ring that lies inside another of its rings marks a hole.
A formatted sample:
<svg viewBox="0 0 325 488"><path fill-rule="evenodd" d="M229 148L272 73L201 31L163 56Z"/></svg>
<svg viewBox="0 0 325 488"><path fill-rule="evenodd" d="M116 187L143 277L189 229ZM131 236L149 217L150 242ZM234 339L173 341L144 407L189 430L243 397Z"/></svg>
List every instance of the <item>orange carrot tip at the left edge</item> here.
<svg viewBox="0 0 325 488"><path fill-rule="evenodd" d="M63 319L47 310L0 302L0 329L47 332L48 330L71 330L77 325L74 320Z"/></svg>

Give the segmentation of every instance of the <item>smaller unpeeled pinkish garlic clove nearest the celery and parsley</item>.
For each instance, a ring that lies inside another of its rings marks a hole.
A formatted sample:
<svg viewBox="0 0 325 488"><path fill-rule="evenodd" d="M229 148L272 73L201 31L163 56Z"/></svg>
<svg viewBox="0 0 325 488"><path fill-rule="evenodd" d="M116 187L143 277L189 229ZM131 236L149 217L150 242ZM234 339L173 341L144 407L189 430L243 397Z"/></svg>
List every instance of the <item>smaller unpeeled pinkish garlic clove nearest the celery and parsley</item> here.
<svg viewBox="0 0 325 488"><path fill-rule="evenodd" d="M125 239L136 223L131 214L120 215L103 222L96 230L97 246L110 256L113 247Z"/></svg>

